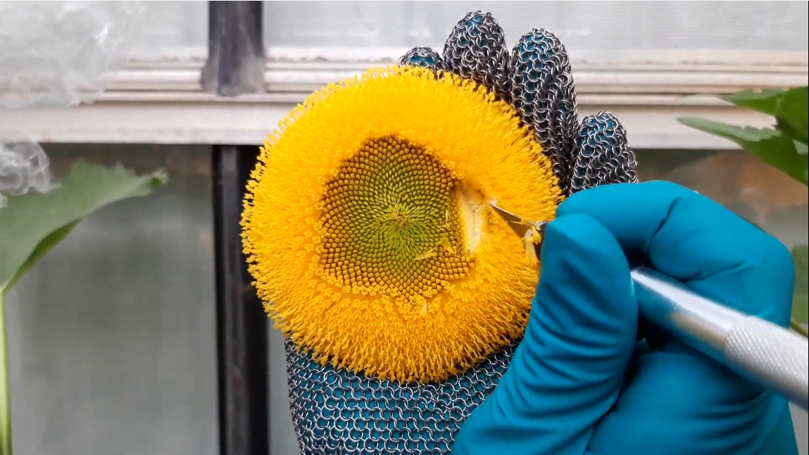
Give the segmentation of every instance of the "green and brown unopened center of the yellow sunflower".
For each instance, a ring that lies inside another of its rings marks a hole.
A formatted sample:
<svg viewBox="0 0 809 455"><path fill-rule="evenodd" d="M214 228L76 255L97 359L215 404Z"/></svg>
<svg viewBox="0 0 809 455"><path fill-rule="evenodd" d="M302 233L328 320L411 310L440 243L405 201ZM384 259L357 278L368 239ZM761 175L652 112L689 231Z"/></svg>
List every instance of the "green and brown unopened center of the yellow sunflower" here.
<svg viewBox="0 0 809 455"><path fill-rule="evenodd" d="M356 292L433 296L468 272L451 172L401 138L368 140L326 185L320 264Z"/></svg>

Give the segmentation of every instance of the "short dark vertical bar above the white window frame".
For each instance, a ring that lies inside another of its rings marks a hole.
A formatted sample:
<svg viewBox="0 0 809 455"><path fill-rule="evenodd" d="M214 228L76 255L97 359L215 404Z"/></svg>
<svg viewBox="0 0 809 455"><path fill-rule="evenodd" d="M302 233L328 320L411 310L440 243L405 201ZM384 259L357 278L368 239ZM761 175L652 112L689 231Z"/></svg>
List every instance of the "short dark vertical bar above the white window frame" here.
<svg viewBox="0 0 809 455"><path fill-rule="evenodd" d="M208 2L205 91L238 96L265 91L262 2Z"/></svg>

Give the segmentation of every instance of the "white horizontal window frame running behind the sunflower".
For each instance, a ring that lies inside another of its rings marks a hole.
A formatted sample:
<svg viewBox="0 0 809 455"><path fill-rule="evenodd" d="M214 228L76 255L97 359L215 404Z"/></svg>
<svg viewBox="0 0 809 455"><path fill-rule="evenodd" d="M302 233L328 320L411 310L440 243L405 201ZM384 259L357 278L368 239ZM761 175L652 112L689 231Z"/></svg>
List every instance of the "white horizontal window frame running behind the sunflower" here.
<svg viewBox="0 0 809 455"><path fill-rule="evenodd" d="M0 137L39 142L258 145L306 96L407 49L270 49L267 92L221 98L202 91L202 49L131 58L95 104L0 113ZM649 58L654 55L654 58ZM577 57L577 56L574 56ZM763 127L769 117L709 96L742 88L807 85L809 53L793 51L644 51L617 62L574 58L579 116L609 111L636 149L736 150L734 144L680 125L705 117Z"/></svg>

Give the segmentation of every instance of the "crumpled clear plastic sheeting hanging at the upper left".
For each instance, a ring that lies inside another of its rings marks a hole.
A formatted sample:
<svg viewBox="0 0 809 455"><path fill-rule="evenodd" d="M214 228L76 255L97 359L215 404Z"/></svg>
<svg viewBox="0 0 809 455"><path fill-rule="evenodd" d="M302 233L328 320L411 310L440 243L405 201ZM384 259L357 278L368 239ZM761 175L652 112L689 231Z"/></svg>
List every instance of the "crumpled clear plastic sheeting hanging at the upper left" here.
<svg viewBox="0 0 809 455"><path fill-rule="evenodd" d="M137 2L0 2L0 110L95 101L124 66L143 11ZM39 144L0 138L0 207L51 185Z"/></svg>

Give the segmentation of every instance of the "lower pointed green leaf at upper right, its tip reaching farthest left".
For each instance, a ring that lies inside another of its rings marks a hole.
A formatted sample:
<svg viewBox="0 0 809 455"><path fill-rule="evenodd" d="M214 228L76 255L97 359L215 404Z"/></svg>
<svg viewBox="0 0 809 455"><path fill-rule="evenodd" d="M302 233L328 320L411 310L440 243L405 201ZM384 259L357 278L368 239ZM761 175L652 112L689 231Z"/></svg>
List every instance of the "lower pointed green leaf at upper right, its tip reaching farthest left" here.
<svg viewBox="0 0 809 455"><path fill-rule="evenodd" d="M809 181L809 155L806 147L772 128L750 128L726 125L718 121L685 117L677 119L683 125L731 140L765 163L780 169L797 181Z"/></svg>

